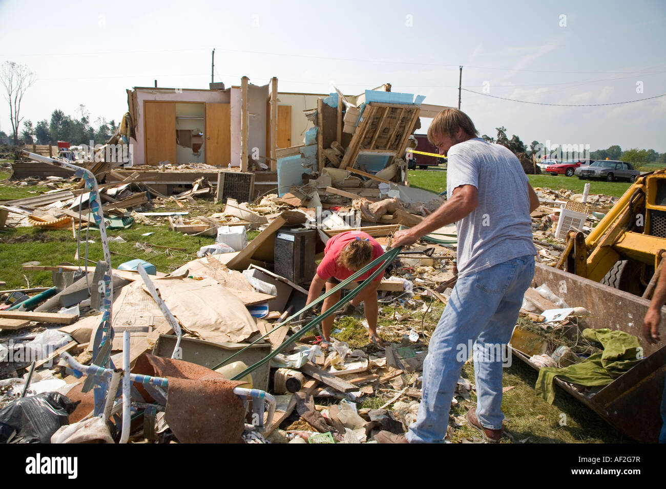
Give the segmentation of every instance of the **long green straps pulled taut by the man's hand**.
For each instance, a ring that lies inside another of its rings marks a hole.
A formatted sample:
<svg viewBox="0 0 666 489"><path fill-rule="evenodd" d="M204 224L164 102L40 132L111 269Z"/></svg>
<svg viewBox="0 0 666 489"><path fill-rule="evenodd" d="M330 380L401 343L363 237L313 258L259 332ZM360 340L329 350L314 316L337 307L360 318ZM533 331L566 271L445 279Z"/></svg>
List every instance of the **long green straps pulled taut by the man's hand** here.
<svg viewBox="0 0 666 489"><path fill-rule="evenodd" d="M265 335L262 335L262 337L253 341L252 343L250 343L250 345L248 345L248 346L244 347L243 349L237 351L236 353L234 353L234 355L231 355L228 359L222 361L222 363L219 363L215 367L212 367L212 370L216 370L216 369L222 367L222 365L226 365L234 357L236 357L236 355L240 355L240 353L242 353L246 349L250 348L252 345L258 343L259 341L261 341L262 339L264 339L265 337L270 335L270 333L272 333L273 331L276 331L280 327L286 326L287 323L292 321L294 318L300 316L305 311L308 311L308 309L312 309L312 307L314 307L318 303L324 301L326 299L326 297L328 297L329 295L332 295L333 293L336 293L340 289L346 287L346 285L348 285L348 283L351 283L352 281L356 280L358 277L360 277L361 275L366 273L368 270L370 270L373 267L376 267L377 265L382 263L382 265L378 269L376 269L374 272L372 272L372 274L367 279L365 279L360 285L358 285L358 287L356 287L356 289L353 289L352 291L350 291L350 293L348 293L347 295L342 297L342 299L340 299L340 301L338 301L338 303L336 303L333 307L331 307L330 309L328 309L324 313L321 313L320 315L312 318L312 321L310 321L308 324L306 324L304 327L302 327L294 335L292 335L291 337L286 339L284 341L284 343L282 343L282 345L278 346L274 351L272 351L271 353L266 355L266 357L264 357L263 359L261 359L260 361L255 363L254 365L248 367L247 369L245 369L244 371L242 371L238 375L235 375L232 378L232 380L238 381L238 380L242 379L243 377L245 377L246 375L248 375L248 373L252 373L254 370L258 369L258 367L260 367L261 365L264 365L264 363L266 363L267 361L270 361L270 359L272 359L273 357L278 355L286 347L288 347L289 345L294 343L296 340L298 340L300 337L302 337L302 335L304 335L305 333L307 333L311 329L314 329L314 327L316 325L318 325L319 323L321 323L324 319L326 319L327 317L329 317L333 313L337 312L338 309L340 307L342 307L342 305L344 303L346 303L347 301L350 301L351 299L354 299L354 297L356 297L356 295L358 295L358 293L360 293L360 291L362 291L362 289L364 289L369 283L371 283L374 279L376 279L376 277L378 277L378 275L380 275L380 273L383 273L384 269L386 269L386 267L388 267L388 265L390 265L392 263L392 261L394 259L396 259L396 256L398 256L398 253L400 253L400 249L401 249L401 247L396 247L396 248L390 249L390 251L386 251L386 253L384 253L382 256L378 257L377 259L375 259L371 263L368 263L368 265L366 265L365 267L363 267L362 269L360 269L359 271L354 273L354 275L350 276L348 279L344 279L344 281L338 283L338 285L336 285L335 287L330 289L330 291L326 292L324 295L322 295L321 297L319 297L315 301L312 301L312 303L306 305L300 311L294 313L293 315L291 315L290 317L288 317L287 319L282 321L282 323L280 323L274 329L272 329L271 331L268 331L268 333L266 333Z"/></svg>

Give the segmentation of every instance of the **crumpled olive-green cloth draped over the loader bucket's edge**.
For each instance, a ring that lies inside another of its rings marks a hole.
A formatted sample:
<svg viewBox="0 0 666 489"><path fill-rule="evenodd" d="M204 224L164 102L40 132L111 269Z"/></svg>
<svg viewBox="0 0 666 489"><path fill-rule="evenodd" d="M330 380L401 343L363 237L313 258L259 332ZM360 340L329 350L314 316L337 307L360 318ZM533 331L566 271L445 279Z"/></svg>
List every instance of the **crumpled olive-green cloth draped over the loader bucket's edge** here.
<svg viewBox="0 0 666 489"><path fill-rule="evenodd" d="M624 331L588 328L583 330L583 337L601 343L603 352L590 355L581 363L563 369L540 369L535 389L537 395L549 404L555 401L555 377L579 385L608 385L643 358L643 349L638 338Z"/></svg>

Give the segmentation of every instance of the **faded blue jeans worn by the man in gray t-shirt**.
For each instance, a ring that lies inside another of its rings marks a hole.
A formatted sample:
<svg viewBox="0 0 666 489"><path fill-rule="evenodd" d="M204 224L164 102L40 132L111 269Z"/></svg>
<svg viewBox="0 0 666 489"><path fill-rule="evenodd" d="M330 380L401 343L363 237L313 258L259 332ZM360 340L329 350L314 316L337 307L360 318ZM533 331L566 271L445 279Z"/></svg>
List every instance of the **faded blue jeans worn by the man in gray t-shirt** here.
<svg viewBox="0 0 666 489"><path fill-rule="evenodd" d="M505 348L533 275L534 257L526 255L458 279L428 345L421 405L406 434L410 443L444 440L451 400L472 343L476 417L485 428L501 428Z"/></svg>

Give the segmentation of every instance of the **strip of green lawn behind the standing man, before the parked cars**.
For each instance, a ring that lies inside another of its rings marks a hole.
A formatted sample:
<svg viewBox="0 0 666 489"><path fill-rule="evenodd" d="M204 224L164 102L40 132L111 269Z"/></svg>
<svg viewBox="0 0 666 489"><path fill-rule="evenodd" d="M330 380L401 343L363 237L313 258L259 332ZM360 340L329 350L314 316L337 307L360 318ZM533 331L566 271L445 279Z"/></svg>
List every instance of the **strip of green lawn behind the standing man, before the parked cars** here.
<svg viewBox="0 0 666 489"><path fill-rule="evenodd" d="M446 172L442 170L409 170L410 186L430 190L430 192L444 192L446 190ZM552 190L567 189L577 194L583 193L583 186L589 182L590 194L604 194L620 197L629 188L629 182L603 182L600 180L579 180L577 177L563 175L527 175L531 186L550 188Z"/></svg>

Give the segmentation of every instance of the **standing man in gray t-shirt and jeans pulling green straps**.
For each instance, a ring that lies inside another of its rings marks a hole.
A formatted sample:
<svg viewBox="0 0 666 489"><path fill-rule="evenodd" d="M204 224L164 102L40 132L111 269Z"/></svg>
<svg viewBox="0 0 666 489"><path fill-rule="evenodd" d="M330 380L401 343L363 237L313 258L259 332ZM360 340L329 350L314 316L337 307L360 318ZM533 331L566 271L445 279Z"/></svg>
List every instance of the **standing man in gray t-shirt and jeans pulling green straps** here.
<svg viewBox="0 0 666 489"><path fill-rule="evenodd" d="M502 367L511 360L506 345L534 274L529 213L539 200L515 155L478 138L464 112L442 110L428 140L448 154L448 200L414 228L394 234L392 246L414 244L456 222L458 280L428 344L416 422L402 437L380 432L377 440L443 440L460 371L474 353L478 401L467 418L484 439L496 442L502 436Z"/></svg>

